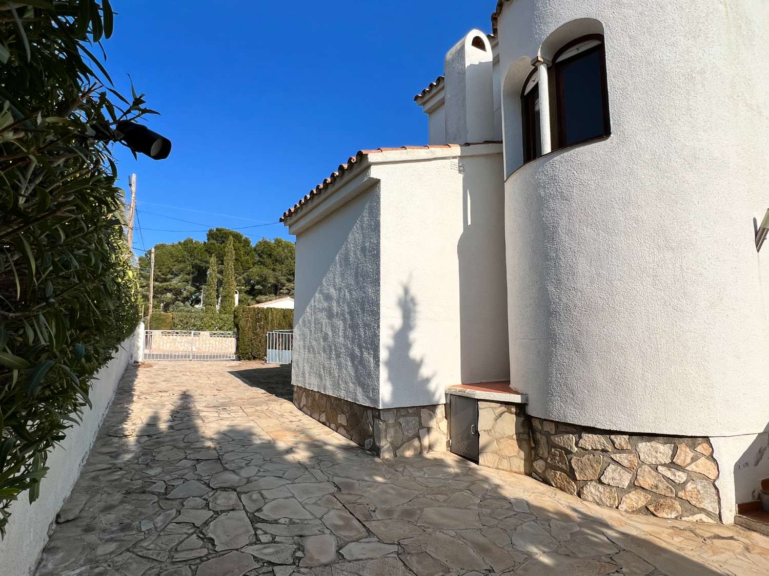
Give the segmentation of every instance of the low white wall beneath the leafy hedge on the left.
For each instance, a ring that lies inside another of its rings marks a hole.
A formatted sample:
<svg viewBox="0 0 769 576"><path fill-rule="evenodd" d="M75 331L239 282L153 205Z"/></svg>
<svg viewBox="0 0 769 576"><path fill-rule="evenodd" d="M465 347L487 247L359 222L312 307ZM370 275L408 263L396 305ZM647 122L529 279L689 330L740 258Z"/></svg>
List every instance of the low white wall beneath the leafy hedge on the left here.
<svg viewBox="0 0 769 576"><path fill-rule="evenodd" d="M22 492L18 501L12 504L8 532L0 541L0 576L27 576L35 569L48 541L48 528L72 492L125 367L135 359L135 339L141 342L143 329L142 324L122 343L115 358L96 375L89 396L93 408L85 409L82 425L69 429L62 444L48 455L46 465L50 470L43 478L40 498L29 504L27 493Z"/></svg>

